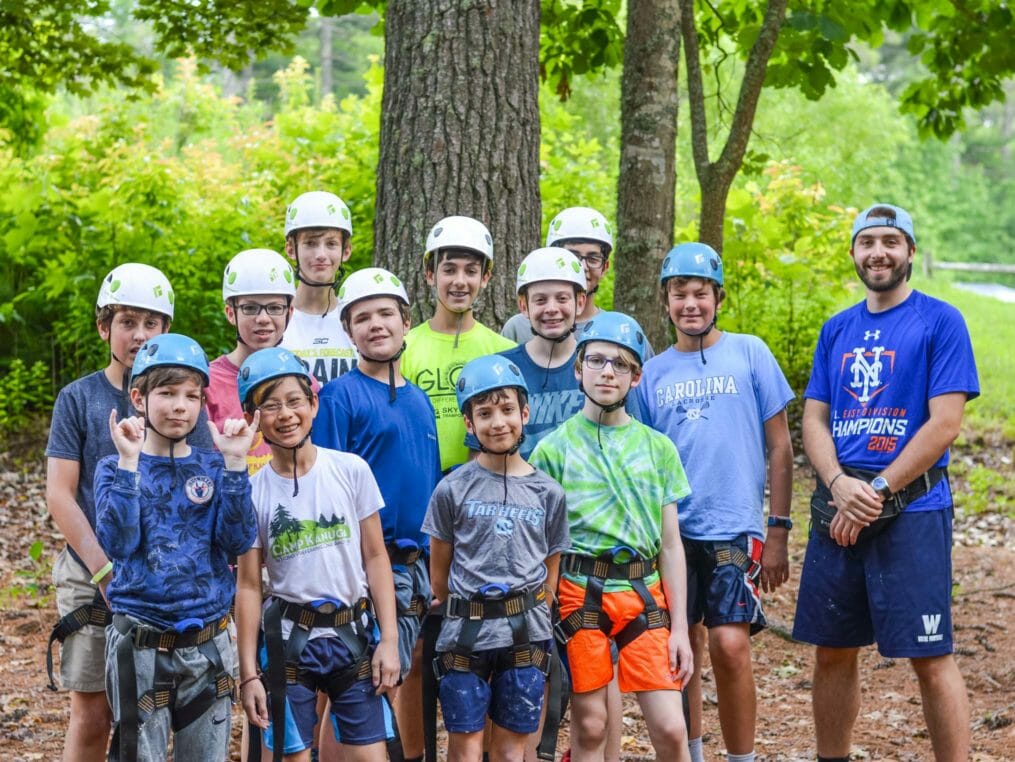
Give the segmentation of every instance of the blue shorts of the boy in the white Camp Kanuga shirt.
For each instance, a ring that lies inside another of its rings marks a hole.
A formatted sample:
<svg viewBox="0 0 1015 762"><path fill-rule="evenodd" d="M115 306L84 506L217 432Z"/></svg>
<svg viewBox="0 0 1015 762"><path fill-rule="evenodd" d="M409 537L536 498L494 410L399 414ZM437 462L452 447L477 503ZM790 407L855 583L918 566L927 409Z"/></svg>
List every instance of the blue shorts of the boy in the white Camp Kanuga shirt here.
<svg viewBox="0 0 1015 762"><path fill-rule="evenodd" d="M267 653L261 648L261 669L267 667ZM337 637L317 637L307 642L299 655L299 668L315 676L341 672L352 664L351 653ZM331 724L340 744L365 746L388 742L395 737L391 706L375 694L369 679L357 680L341 696L331 701ZM271 697L268 697L269 712ZM270 715L270 714L269 714ZM317 693L300 683L285 687L285 754L309 749L317 724ZM274 749L274 728L264 732L264 743Z"/></svg>

